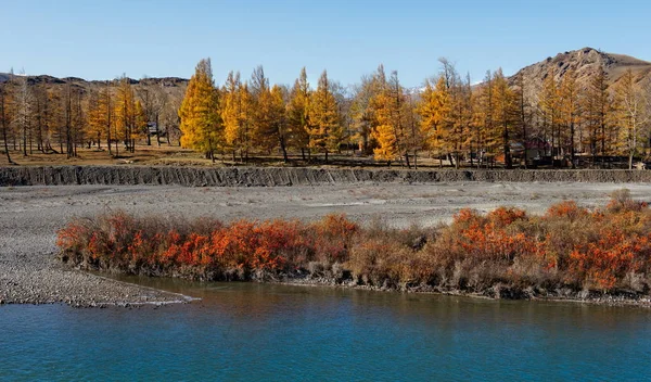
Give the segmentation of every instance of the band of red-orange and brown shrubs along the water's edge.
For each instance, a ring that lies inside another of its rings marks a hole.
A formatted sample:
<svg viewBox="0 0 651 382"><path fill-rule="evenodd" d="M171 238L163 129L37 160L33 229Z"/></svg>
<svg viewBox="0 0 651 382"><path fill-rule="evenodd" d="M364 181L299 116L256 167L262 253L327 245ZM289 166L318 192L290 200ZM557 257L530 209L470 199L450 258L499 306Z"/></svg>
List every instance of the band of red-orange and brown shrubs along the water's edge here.
<svg viewBox="0 0 651 382"><path fill-rule="evenodd" d="M651 211L627 191L593 211L566 201L542 216L462 209L449 225L392 229L343 215L316 222L170 221L123 212L58 233L71 266L195 280L314 281L492 297L644 297Z"/></svg>

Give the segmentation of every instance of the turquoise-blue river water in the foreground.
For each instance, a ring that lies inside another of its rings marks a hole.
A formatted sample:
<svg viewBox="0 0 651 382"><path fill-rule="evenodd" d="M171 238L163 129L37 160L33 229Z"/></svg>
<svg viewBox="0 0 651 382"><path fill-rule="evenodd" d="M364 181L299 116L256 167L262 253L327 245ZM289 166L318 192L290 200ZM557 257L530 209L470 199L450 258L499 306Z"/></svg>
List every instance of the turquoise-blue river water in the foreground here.
<svg viewBox="0 0 651 382"><path fill-rule="evenodd" d="M0 380L651 379L648 309L148 282L203 301L0 306Z"/></svg>

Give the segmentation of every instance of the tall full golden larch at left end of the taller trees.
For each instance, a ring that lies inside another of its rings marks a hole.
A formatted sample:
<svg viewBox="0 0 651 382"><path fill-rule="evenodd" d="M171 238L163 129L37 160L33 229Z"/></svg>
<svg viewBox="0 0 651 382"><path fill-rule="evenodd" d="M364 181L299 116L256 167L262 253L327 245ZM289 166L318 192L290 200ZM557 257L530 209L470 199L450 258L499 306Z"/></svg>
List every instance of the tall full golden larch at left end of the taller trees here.
<svg viewBox="0 0 651 382"><path fill-rule="evenodd" d="M213 80L209 59L199 62L179 109L181 145L203 151L215 162L215 151L224 145L219 96Z"/></svg>

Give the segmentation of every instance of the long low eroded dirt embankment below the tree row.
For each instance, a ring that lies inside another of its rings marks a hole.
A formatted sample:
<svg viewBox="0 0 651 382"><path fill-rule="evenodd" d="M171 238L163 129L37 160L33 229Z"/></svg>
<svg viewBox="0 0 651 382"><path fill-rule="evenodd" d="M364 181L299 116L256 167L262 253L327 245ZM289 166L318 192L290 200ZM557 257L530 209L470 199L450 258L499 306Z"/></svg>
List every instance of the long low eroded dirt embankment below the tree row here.
<svg viewBox="0 0 651 382"><path fill-rule="evenodd" d="M275 187L342 183L651 182L641 170L405 170L278 167L43 166L0 167L0 186L177 184Z"/></svg>

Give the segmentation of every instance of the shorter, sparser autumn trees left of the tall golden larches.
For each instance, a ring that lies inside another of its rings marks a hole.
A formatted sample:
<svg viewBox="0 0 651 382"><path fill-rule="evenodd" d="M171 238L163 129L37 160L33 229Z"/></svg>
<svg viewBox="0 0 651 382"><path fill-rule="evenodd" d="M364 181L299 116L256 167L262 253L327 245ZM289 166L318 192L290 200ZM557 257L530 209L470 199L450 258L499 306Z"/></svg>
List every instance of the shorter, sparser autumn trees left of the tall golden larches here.
<svg viewBox="0 0 651 382"><path fill-rule="evenodd" d="M0 138L7 160L13 163L12 151L73 157L78 148L92 147L117 157L120 150L133 152L137 142L170 144L180 135L181 98L170 94L163 81L150 82L133 85L126 75L86 86L73 79L52 84L9 76L0 82Z"/></svg>

